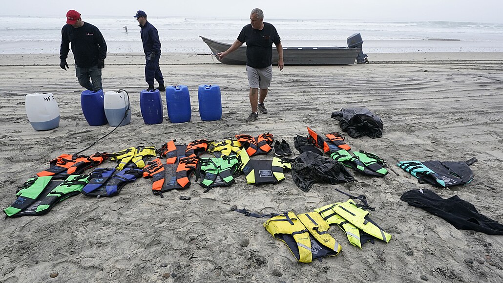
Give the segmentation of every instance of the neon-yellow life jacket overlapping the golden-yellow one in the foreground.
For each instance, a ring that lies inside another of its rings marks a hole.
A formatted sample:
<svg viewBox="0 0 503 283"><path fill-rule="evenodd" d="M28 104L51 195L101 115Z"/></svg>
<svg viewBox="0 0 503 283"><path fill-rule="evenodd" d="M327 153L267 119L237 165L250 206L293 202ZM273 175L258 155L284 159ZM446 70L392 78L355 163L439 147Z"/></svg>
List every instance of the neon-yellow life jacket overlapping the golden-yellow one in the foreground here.
<svg viewBox="0 0 503 283"><path fill-rule="evenodd" d="M357 247L373 239L389 242L391 235L369 218L369 211L364 210L349 199L314 209L328 224L337 224L346 232L350 243Z"/></svg>

